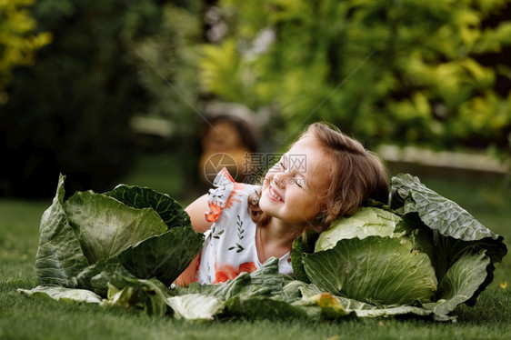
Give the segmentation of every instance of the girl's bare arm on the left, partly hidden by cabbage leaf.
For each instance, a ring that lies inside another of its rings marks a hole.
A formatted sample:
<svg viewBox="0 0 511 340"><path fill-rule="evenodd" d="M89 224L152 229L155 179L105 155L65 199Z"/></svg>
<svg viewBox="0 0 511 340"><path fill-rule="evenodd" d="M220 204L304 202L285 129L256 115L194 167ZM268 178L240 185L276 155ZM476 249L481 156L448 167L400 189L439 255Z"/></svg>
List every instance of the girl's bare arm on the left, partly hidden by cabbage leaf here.
<svg viewBox="0 0 511 340"><path fill-rule="evenodd" d="M185 208L185 212L190 215L190 220L192 221L194 229L203 234L213 225L211 222L205 220L205 212L208 211L207 200L208 195L202 195ZM195 282L198 260L199 255L197 255L185 271L175 279L175 285L186 286L191 282Z"/></svg>

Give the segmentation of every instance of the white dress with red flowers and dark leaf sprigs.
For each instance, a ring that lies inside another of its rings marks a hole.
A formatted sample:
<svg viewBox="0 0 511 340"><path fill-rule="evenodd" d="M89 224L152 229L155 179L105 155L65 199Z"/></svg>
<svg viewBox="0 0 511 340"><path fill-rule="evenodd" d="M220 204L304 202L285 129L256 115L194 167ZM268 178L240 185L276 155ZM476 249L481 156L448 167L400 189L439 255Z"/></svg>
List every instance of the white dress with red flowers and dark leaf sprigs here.
<svg viewBox="0 0 511 340"><path fill-rule="evenodd" d="M236 183L227 170L215 177L209 190L205 243L197 264L196 282L219 284L242 272L252 273L261 265L255 247L255 223L248 214L248 196L261 190L258 185ZM292 275L289 253L279 259L279 272Z"/></svg>

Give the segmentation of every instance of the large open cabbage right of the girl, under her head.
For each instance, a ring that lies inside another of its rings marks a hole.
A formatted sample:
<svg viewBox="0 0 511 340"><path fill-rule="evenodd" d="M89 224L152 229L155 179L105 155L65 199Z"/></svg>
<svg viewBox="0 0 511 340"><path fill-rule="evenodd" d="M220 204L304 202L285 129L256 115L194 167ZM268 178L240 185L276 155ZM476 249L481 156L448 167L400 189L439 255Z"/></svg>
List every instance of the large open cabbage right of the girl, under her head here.
<svg viewBox="0 0 511 340"><path fill-rule="evenodd" d="M294 268L321 291L379 309L413 305L446 319L474 305L506 255L503 237L417 177L391 184L392 210L367 206L340 219Z"/></svg>

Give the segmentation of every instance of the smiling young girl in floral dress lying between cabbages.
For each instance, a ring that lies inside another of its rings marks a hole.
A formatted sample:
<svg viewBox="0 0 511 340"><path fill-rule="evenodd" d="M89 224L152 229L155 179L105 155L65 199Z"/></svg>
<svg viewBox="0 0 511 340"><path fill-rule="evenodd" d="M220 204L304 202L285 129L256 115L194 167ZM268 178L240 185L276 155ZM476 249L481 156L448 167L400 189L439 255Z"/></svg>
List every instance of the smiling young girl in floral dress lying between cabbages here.
<svg viewBox="0 0 511 340"><path fill-rule="evenodd" d="M306 128L262 186L235 183L225 169L214 185L185 209L195 230L205 233L205 244L176 285L222 283L272 256L279 258L280 273L292 275L297 236L326 230L369 198L386 203L388 197L378 157L321 123Z"/></svg>

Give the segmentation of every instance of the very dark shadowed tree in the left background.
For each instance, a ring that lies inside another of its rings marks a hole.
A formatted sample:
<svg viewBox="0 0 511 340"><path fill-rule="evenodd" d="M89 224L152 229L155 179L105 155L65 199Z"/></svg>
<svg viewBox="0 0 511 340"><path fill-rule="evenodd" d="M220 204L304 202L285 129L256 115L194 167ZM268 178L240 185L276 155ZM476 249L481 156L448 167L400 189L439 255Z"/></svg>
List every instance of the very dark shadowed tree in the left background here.
<svg viewBox="0 0 511 340"><path fill-rule="evenodd" d="M0 152L8 166L0 170L0 195L54 195L59 172L69 193L103 191L133 164L130 122L151 103L133 48L159 34L165 3L35 2L37 30L54 41L33 67L16 69L6 89Z"/></svg>

